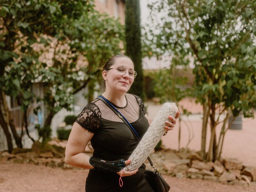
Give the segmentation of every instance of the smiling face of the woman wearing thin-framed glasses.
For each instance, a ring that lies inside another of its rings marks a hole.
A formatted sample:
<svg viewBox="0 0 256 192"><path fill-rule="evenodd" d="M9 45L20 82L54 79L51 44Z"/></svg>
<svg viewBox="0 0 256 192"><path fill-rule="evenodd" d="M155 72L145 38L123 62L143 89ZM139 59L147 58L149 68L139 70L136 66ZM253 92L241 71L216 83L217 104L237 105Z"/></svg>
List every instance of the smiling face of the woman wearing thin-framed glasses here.
<svg viewBox="0 0 256 192"><path fill-rule="evenodd" d="M114 92L128 92L134 82L134 79L129 76L129 71L134 70L132 60L127 57L116 58L115 63L110 68L112 69L104 70L102 72L102 76L106 81L106 88L110 88ZM116 69L126 70L126 72L123 75L120 75Z"/></svg>

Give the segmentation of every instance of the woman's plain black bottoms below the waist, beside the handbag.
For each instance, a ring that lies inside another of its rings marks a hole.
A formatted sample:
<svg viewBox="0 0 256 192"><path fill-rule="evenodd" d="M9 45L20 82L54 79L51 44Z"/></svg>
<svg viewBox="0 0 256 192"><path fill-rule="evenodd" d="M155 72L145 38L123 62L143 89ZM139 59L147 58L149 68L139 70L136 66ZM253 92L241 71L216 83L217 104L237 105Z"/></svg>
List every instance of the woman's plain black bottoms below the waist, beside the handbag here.
<svg viewBox="0 0 256 192"><path fill-rule="evenodd" d="M86 192L154 192L143 175L122 177L123 186L119 186L118 174L89 171L86 178Z"/></svg>

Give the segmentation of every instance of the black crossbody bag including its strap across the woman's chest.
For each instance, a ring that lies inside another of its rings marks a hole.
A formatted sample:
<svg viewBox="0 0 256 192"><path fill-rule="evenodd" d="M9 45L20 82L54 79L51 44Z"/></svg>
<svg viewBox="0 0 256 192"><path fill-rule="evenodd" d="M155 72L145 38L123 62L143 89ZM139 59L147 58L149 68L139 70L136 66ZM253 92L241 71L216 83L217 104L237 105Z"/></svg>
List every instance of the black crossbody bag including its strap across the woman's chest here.
<svg viewBox="0 0 256 192"><path fill-rule="evenodd" d="M117 114L123 120L128 128L130 128L135 139L140 142L140 137L138 136L138 133L128 122L128 120L126 120L126 118L102 95L98 96L98 99L104 102L115 114ZM148 157L148 161L150 165L154 168L154 171L145 170L144 177L146 178L147 182L150 184L154 192L168 192L170 190L170 186L168 185L166 180L164 180L163 176L158 172L158 170L154 167L150 157Z"/></svg>

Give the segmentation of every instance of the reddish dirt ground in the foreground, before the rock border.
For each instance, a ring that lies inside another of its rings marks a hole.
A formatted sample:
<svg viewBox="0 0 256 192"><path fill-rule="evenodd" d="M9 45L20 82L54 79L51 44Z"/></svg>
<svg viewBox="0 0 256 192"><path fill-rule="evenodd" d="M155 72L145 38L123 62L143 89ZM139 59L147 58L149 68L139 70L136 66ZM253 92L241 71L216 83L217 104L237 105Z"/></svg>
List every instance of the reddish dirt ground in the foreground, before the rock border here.
<svg viewBox="0 0 256 192"><path fill-rule="evenodd" d="M0 192L84 192L87 174L83 169L0 164ZM242 187L166 175L164 178L171 186L170 192L256 192L256 182Z"/></svg>

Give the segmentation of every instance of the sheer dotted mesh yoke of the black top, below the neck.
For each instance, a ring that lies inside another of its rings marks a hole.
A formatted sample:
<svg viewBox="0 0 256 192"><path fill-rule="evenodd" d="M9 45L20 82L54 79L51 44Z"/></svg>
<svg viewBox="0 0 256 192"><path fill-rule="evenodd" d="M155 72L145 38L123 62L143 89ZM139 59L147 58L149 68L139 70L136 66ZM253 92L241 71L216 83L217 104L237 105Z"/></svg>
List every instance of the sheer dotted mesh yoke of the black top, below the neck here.
<svg viewBox="0 0 256 192"><path fill-rule="evenodd" d="M140 115L140 106L137 99L132 94L126 94L127 105L124 108L115 106L116 109L121 112L124 117L130 122L138 120ZM96 99L95 104L99 107L101 112L101 117L106 120L111 120L115 122L123 122L106 104L102 101Z"/></svg>

